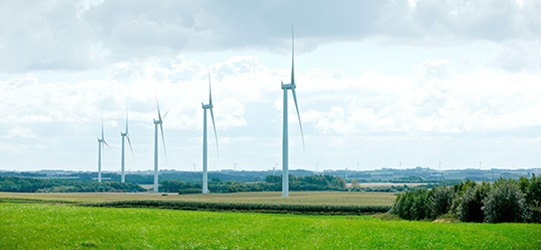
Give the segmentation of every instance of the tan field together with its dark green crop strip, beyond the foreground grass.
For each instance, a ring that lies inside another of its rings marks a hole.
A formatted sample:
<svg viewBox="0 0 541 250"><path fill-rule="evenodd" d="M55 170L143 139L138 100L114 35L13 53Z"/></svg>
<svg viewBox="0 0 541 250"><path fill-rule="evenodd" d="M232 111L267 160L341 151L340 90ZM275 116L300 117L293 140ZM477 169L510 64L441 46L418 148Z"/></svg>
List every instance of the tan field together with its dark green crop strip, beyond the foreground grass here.
<svg viewBox="0 0 541 250"><path fill-rule="evenodd" d="M372 192L293 192L287 198L280 195L278 192L166 196L155 193L0 193L0 201L123 208L360 215L384 213L391 208L394 200L393 194Z"/></svg>

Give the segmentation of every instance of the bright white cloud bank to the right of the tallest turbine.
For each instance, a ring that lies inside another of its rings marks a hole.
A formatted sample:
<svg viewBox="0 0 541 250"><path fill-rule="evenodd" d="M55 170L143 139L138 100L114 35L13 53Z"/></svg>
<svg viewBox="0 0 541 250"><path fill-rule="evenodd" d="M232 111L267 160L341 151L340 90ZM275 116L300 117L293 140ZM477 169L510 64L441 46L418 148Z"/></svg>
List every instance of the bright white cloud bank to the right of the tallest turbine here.
<svg viewBox="0 0 541 250"><path fill-rule="evenodd" d="M311 107L303 117L321 132L348 135L505 131L541 124L538 76L494 71L457 75L449 67L449 62L426 61L414 67L411 77L392 82L378 82L385 77L372 75L350 79L369 84L363 90L343 89L335 99L341 106L328 111ZM397 88L382 88L385 84Z"/></svg>

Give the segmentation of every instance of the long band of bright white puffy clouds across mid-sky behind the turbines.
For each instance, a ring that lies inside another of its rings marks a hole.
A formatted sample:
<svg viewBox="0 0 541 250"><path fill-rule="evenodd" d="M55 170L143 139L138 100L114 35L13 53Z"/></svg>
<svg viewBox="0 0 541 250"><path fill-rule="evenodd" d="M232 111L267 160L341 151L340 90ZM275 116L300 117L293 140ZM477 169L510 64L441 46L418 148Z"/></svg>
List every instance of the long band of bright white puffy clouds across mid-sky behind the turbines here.
<svg viewBox="0 0 541 250"><path fill-rule="evenodd" d="M68 122L84 127L99 119L103 110L105 120L111 120L108 126L115 127L123 123L112 120L124 116L126 99L132 121L154 118L156 93L162 112L170 110L168 127L201 127L200 103L208 98L207 72L201 63L179 57L120 67L145 71L70 84L41 83L32 74L0 82L6 100L0 105L0 120L17 126ZM246 107L253 103L273 105L281 114L277 82L287 79L289 72L266 69L253 57L230 58L210 67L217 76L213 100L223 129L248 126ZM336 72L297 73L305 83L297 89L305 126L323 133L498 131L541 124L541 87L535 75L500 71L460 75L442 60L422 62L410 76L366 73L361 78L333 79ZM176 74L184 78L178 80ZM297 123L291 97L289 113L290 122Z"/></svg>

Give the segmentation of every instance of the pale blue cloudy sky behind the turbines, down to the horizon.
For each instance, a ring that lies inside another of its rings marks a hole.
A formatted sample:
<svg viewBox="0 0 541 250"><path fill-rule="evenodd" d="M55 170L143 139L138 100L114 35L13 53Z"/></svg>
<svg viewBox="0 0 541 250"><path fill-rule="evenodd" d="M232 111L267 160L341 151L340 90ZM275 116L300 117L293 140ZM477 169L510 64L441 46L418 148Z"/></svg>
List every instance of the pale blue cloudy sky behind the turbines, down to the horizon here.
<svg viewBox="0 0 541 250"><path fill-rule="evenodd" d="M0 170L541 167L541 1L0 2ZM161 142L160 142L161 143ZM219 153L218 153L219 151Z"/></svg>

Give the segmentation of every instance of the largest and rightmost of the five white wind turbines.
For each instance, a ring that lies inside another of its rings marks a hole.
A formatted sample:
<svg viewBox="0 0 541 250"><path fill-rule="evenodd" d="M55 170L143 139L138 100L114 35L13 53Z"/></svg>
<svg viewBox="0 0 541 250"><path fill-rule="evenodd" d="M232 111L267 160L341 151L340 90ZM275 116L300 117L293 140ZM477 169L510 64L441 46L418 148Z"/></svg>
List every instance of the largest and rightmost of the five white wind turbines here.
<svg viewBox="0 0 541 250"><path fill-rule="evenodd" d="M297 95L295 94L295 41L293 34L293 26L291 27L291 83L284 84L282 82L282 89L284 90L284 126L282 133L282 196L289 196L289 142L288 142L288 126L287 126L287 90L291 89L293 93L293 100L295 101L295 108L297 109L297 117L299 118L299 126L301 128L302 148L304 150L304 133L302 132L301 115L299 113L299 105L297 104Z"/></svg>

